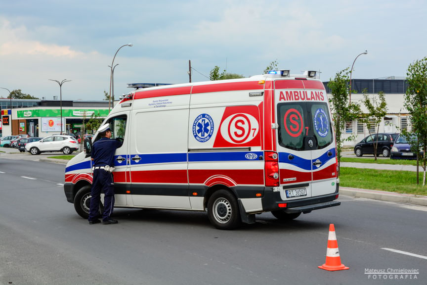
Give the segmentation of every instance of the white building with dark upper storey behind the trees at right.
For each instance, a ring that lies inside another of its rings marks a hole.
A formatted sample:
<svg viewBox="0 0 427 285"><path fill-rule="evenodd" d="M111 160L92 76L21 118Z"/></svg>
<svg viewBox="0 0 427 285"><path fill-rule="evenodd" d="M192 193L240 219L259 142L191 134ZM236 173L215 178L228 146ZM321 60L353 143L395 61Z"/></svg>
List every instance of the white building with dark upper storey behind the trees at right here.
<svg viewBox="0 0 427 285"><path fill-rule="evenodd" d="M384 93L387 103L387 114L380 123L379 133L400 133L402 129L410 131L410 114L404 106L408 83L404 78L353 79L351 82L351 89L356 92L351 95L351 102L358 102L362 111L367 111L362 103L363 91L365 89L368 95L378 95L379 92ZM323 84L330 96L331 91L328 88L328 82L324 82ZM371 129L371 134L376 132L377 130L374 130L374 128ZM344 141L343 145L354 146L367 136L369 136L369 130L365 124L357 119L347 122L345 131L343 131L343 139L350 138L350 140Z"/></svg>

